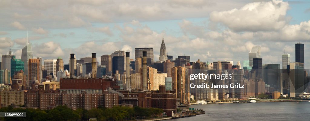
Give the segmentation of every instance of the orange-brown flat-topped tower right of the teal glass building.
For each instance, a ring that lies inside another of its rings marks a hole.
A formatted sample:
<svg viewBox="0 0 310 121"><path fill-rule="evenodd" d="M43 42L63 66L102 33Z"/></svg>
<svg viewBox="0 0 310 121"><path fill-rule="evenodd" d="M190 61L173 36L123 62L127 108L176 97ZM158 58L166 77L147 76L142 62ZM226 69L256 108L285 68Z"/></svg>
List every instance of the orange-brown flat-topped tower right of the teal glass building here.
<svg viewBox="0 0 310 121"><path fill-rule="evenodd" d="M28 80L39 80L42 79L42 58L30 58L28 62ZM45 78L45 77L44 77ZM28 85L28 83L27 83ZM29 85L28 85L29 86Z"/></svg>

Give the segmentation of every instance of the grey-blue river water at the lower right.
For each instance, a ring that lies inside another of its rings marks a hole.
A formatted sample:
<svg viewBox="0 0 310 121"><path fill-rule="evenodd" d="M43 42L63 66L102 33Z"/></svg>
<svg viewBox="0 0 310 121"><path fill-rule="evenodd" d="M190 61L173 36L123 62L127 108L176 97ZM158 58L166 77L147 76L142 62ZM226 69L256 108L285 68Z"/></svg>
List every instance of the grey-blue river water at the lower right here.
<svg viewBox="0 0 310 121"><path fill-rule="evenodd" d="M173 121L309 121L310 102L257 102L257 103L217 103L191 105L190 108L203 109L206 114L193 117L170 119Z"/></svg>

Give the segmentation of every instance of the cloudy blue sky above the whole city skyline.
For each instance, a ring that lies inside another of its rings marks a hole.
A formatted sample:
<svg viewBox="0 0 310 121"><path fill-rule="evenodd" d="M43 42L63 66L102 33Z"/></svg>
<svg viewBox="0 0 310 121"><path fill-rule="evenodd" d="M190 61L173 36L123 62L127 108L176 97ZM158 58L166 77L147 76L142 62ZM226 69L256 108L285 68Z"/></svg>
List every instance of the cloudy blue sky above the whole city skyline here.
<svg viewBox="0 0 310 121"><path fill-rule="evenodd" d="M17 58L28 40L34 57L77 58L91 53L131 52L153 47L159 57L162 32L168 55L191 61L247 60L261 46L263 63L281 64L281 54L295 60L295 43L305 44L310 68L310 2L260 0L0 0L0 54ZM308 64L307 64L308 63Z"/></svg>

